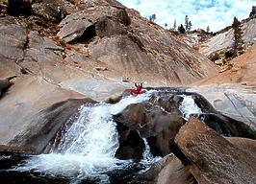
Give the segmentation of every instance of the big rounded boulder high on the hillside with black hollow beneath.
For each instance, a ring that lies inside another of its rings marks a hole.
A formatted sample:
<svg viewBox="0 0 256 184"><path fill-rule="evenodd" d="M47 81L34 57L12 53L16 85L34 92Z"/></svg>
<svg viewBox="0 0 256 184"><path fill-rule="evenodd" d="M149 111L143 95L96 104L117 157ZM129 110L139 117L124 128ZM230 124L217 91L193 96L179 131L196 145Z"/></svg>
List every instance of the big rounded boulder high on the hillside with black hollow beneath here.
<svg viewBox="0 0 256 184"><path fill-rule="evenodd" d="M65 42L87 42L96 35L121 34L121 25L129 24L125 9L99 6L67 15L60 23L61 30L57 35Z"/></svg>

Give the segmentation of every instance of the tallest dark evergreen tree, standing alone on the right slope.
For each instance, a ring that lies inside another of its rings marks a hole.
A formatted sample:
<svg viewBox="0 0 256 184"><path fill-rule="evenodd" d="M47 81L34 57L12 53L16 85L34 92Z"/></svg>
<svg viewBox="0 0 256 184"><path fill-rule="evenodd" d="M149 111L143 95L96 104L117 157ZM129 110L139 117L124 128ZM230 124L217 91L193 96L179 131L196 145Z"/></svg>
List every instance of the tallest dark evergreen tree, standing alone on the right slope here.
<svg viewBox="0 0 256 184"><path fill-rule="evenodd" d="M242 38L242 29L241 29L241 22L235 16L232 24L232 28L234 30L234 51L235 55L237 56L237 52L242 50L243 45L243 38Z"/></svg>

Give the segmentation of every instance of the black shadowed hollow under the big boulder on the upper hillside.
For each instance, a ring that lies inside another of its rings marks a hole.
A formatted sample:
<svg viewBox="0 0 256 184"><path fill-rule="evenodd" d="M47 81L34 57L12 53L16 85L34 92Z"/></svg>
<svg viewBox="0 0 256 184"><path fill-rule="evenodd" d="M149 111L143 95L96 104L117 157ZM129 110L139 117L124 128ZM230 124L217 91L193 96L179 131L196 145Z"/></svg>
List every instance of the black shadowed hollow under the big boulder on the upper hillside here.
<svg viewBox="0 0 256 184"><path fill-rule="evenodd" d="M92 25L86 29L86 31L80 35L79 37L73 39L70 41L70 44L76 44L76 43L89 43L90 40L96 36L96 28L95 25Z"/></svg>

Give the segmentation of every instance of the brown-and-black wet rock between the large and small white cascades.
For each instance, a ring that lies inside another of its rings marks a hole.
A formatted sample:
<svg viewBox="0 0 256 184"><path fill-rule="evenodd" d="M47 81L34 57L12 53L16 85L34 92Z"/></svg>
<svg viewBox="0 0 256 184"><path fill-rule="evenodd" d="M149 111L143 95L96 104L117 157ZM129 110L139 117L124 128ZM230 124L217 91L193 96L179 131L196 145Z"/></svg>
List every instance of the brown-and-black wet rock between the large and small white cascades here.
<svg viewBox="0 0 256 184"><path fill-rule="evenodd" d="M178 99L168 95L152 96L149 102L130 104L115 115L115 122L138 130L141 137L147 138L152 153L164 156L170 152L169 145L185 124Z"/></svg>

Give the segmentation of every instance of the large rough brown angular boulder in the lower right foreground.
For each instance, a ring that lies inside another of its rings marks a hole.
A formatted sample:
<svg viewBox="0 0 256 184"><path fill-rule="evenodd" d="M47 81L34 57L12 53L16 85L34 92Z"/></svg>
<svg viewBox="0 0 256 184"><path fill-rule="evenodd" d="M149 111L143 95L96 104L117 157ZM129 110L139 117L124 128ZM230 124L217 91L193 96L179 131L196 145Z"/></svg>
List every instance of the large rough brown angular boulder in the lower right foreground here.
<svg viewBox="0 0 256 184"><path fill-rule="evenodd" d="M198 183L254 183L256 159L196 119L175 138Z"/></svg>

